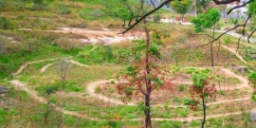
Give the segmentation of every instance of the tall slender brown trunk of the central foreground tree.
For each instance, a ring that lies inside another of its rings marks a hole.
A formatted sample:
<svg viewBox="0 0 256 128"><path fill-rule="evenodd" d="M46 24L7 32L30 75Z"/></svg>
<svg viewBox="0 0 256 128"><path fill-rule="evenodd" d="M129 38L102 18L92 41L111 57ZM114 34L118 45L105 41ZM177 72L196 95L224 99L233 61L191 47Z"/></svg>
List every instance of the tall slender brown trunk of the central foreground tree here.
<svg viewBox="0 0 256 128"><path fill-rule="evenodd" d="M146 57L145 57L145 64L146 64L146 94L145 94L145 106L146 106L146 110L144 110L144 114L145 114L145 123L146 123L146 128L150 128L151 127L151 115L150 115L150 94L152 91L152 84L151 84L151 80L148 78L148 76L150 75L151 69L150 69L150 65L149 65L149 46L150 46L150 38L149 38L149 30L147 29L147 27L144 28L145 29L145 34L146 34Z"/></svg>

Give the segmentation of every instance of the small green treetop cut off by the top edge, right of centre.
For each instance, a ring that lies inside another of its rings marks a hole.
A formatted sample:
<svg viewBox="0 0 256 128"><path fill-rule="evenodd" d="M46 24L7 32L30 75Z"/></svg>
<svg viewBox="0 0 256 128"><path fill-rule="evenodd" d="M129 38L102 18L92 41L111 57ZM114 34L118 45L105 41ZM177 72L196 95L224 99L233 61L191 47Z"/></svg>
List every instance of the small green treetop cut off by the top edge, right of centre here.
<svg viewBox="0 0 256 128"><path fill-rule="evenodd" d="M177 13L180 13L182 15L182 19L184 19L184 14L189 12L190 7L192 6L191 0L174 0L171 3L172 8Z"/></svg>

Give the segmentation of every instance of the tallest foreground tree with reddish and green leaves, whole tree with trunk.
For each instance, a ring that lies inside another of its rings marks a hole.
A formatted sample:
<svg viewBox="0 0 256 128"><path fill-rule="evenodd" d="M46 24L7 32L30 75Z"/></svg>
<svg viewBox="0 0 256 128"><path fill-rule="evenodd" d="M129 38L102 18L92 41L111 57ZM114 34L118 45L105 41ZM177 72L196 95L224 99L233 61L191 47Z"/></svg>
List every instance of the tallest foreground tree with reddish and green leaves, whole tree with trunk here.
<svg viewBox="0 0 256 128"><path fill-rule="evenodd" d="M124 95L123 102L127 102L142 94L144 103L140 103L140 108L144 111L146 128L151 127L151 93L156 88L172 89L172 83L167 79L164 70L156 64L161 58L159 46L161 39L167 35L164 32L150 29L149 25L144 25L145 40L138 40L134 47L135 62L127 66L118 76L118 90L120 95ZM150 35L151 33L151 35ZM138 58L137 58L138 57Z"/></svg>

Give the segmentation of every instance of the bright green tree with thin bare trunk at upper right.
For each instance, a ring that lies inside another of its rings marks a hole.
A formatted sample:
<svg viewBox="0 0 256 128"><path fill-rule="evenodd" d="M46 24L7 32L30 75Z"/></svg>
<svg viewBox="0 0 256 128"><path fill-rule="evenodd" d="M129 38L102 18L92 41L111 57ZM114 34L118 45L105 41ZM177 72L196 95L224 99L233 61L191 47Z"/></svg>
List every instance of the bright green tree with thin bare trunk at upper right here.
<svg viewBox="0 0 256 128"><path fill-rule="evenodd" d="M220 20L220 12L217 9L209 9L206 14L200 13L197 18L192 19L192 24L194 25L195 32L207 33L207 29L212 29L212 35L210 37L214 38L215 27L217 22ZM213 42L210 43L210 58L211 66L214 66L213 62Z"/></svg>

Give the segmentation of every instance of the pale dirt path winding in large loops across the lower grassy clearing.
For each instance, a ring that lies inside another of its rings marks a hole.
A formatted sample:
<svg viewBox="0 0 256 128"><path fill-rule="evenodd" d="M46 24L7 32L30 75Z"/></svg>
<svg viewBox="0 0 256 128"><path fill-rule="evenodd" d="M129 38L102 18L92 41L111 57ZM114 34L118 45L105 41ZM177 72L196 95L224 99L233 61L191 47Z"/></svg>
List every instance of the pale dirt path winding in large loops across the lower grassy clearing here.
<svg viewBox="0 0 256 128"><path fill-rule="evenodd" d="M30 63L27 63L27 64L34 64L34 63L41 63L41 62L45 62L45 61L50 61L50 60L58 60L58 59L64 59L64 58L57 58L57 59L46 59L46 60L40 60L40 61L35 61L35 62L30 62ZM76 61L73 61L73 60L69 60L70 63L72 64L78 64L78 65L81 65L81 66L84 66L84 67L90 67L89 65L85 65L85 64L80 64ZM23 64L19 70L16 72L16 74L22 72L22 70L27 66L27 64ZM46 64L46 66L44 66L44 70L46 70L46 68L49 66L49 64ZM238 76L236 75L235 73L231 72L229 69L227 68L224 68L224 67L221 67L221 70L223 70L224 72L228 73L230 76L233 76L233 77L236 77L237 79L239 79L241 81L240 84L238 84L236 87L232 87L232 88L229 88L229 89L235 89L235 88L243 88L243 87L247 87L248 86L248 82L247 82L247 79L245 79L244 77L242 76ZM111 81L116 81L116 80L108 80L108 81L105 81L105 80L102 80L102 81L97 81L97 82L90 82L88 85L87 85L87 90L90 94L91 97L95 98L97 97L98 99L102 100L102 101L108 101L108 102L112 102L112 103L115 103L115 104L123 104L122 101L119 101L119 100L114 100L114 99L110 99L108 97L105 97L103 95L98 95L95 93L95 89L96 87L98 87L100 84L102 83L106 83L106 82L111 82ZM21 90L25 90L32 99L34 99L35 101L40 101L40 102L43 102L43 103L46 103L46 99L43 98L43 97L39 97L37 95L37 92L34 91L34 90L31 90L29 88L27 88L27 85L26 83L24 82L20 82L18 80L13 80L13 81L10 81L11 84L14 85L15 88L17 89L21 89ZM117 81L116 81L117 82ZM186 82L186 83L190 83L190 82ZM210 102L208 103L208 105L214 105L214 104L220 104L220 103L226 103L226 102L232 102L232 101L247 101L249 100L250 98L240 98L240 99L235 99L235 100L229 100L229 101L215 101L215 102ZM134 103L128 103L127 105L136 105ZM157 106L157 105L156 105ZM158 106L162 106L162 105L158 105ZM78 117L78 118L82 118L82 119L91 119L91 118L88 118L87 115L85 114L79 114L77 112L72 112L72 111L66 111L64 110L63 108L61 107L58 107L56 105L53 104L53 107L55 110L59 111L59 112L62 112L66 115L70 115L70 116L75 116L75 117ZM170 105L169 107L186 107L184 105ZM224 116L229 116L229 115L239 115L241 114L242 112L233 112L233 113L226 113L226 114L217 114L217 115L209 115L207 118L219 118L219 117L224 117ZM153 118L152 120L155 120L155 121L159 121L159 120L180 120L180 121L191 121L191 120L194 120L194 119L202 119L201 117L188 117L188 118L174 118L174 119L164 119L164 118ZM105 119L92 119L92 120L105 120ZM140 118L140 119L122 119L122 120L143 120L143 118Z"/></svg>

